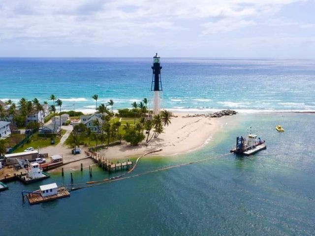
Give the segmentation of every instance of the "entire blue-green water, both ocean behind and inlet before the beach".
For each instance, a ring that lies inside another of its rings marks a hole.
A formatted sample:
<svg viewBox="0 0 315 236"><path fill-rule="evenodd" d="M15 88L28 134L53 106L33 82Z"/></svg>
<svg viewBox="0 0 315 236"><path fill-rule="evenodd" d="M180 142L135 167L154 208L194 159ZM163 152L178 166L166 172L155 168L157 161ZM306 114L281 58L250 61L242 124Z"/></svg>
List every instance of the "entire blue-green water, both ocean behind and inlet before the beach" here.
<svg viewBox="0 0 315 236"><path fill-rule="evenodd" d="M114 109L151 94L151 59L1 59L0 98L47 100L64 109ZM23 190L70 183L70 173L0 192L0 235L315 235L315 67L313 60L161 59L165 108L237 109L233 122L204 147L174 156L144 157L132 175L205 158L208 161L71 192L30 206ZM4 89L2 89L4 88ZM65 100L68 99L68 100ZM198 100L197 100L198 99ZM272 113L271 113L272 112ZM285 132L275 126L281 124ZM229 153L236 136L258 130L267 149ZM74 183L121 175L93 166ZM126 175L128 176L128 175Z"/></svg>

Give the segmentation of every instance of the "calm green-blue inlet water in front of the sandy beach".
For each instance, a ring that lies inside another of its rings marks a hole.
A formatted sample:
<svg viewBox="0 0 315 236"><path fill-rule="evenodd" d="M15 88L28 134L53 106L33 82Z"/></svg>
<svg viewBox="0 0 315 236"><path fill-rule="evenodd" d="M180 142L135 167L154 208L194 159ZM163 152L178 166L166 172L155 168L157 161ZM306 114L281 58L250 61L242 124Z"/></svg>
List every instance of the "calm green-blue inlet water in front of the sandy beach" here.
<svg viewBox="0 0 315 236"><path fill-rule="evenodd" d="M314 114L238 114L206 147L172 157L145 157L133 174L225 154L252 125L267 149L234 154L71 192L40 205L21 191L70 182L55 175L0 193L2 236L13 235L315 235ZM284 133L275 126L281 123ZM74 182L108 177L94 167Z"/></svg>

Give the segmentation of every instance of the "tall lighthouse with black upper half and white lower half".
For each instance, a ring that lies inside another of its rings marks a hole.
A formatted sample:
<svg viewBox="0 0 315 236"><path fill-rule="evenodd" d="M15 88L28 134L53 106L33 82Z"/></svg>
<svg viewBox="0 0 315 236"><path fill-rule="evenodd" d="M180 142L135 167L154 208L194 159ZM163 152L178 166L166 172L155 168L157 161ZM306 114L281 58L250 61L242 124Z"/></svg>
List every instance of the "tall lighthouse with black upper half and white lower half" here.
<svg viewBox="0 0 315 236"><path fill-rule="evenodd" d="M153 115L159 114L159 91L162 91L161 69L158 54L153 57L153 70L151 91L154 91L153 97Z"/></svg>

